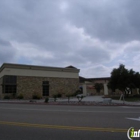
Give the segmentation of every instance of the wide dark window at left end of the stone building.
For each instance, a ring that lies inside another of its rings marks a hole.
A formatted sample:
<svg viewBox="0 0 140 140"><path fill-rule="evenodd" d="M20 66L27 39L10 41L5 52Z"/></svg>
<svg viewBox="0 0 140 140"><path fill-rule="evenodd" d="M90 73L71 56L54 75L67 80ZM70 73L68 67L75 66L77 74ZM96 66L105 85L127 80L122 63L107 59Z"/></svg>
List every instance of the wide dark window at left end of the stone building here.
<svg viewBox="0 0 140 140"><path fill-rule="evenodd" d="M17 77L16 76L4 76L2 83L3 93L16 93L17 92Z"/></svg>

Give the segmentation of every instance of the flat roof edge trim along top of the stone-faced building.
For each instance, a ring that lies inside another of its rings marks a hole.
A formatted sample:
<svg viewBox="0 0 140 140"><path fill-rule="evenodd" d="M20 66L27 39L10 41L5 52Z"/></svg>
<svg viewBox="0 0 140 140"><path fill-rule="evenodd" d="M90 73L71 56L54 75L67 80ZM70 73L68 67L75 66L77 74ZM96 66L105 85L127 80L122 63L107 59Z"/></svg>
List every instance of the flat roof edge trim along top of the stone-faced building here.
<svg viewBox="0 0 140 140"><path fill-rule="evenodd" d="M3 63L0 67L0 72L4 68L44 70L44 71L64 71L64 72L76 72L76 73L80 71L80 69L77 69L77 68L63 68L63 67L50 67L50 66L39 66L39 65Z"/></svg>

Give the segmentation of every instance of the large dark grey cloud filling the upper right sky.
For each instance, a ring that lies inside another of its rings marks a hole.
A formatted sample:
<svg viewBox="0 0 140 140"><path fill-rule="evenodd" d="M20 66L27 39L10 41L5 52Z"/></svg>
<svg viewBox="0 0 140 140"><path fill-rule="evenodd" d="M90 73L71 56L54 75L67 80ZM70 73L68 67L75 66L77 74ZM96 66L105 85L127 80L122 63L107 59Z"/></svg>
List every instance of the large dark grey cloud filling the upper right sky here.
<svg viewBox="0 0 140 140"><path fill-rule="evenodd" d="M92 37L115 42L140 39L140 1L73 1L70 22L83 27Z"/></svg>

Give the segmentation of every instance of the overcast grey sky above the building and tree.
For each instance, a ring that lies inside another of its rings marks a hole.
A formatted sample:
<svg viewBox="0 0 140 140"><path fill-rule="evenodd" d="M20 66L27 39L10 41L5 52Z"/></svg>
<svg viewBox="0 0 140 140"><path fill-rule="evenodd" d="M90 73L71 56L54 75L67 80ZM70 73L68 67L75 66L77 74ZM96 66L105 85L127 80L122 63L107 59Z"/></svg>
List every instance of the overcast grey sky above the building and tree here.
<svg viewBox="0 0 140 140"><path fill-rule="evenodd" d="M140 0L0 0L0 64L140 72Z"/></svg>

